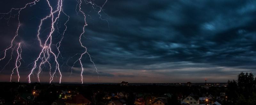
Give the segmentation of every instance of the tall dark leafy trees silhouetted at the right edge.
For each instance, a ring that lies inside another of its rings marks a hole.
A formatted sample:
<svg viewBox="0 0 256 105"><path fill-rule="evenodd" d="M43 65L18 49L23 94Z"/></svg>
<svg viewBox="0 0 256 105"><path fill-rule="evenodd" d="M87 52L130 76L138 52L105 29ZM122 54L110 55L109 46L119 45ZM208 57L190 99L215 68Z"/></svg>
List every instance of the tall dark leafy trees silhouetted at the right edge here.
<svg viewBox="0 0 256 105"><path fill-rule="evenodd" d="M237 80L228 80L225 105L256 105L256 78L241 72Z"/></svg>

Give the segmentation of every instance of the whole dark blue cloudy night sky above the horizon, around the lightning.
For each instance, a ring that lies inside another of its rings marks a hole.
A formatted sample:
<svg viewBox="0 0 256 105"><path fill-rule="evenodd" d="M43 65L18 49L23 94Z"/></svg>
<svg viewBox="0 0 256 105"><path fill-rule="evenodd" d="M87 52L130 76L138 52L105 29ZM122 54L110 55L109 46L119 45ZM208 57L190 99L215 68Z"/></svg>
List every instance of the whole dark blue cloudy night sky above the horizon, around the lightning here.
<svg viewBox="0 0 256 105"><path fill-rule="evenodd" d="M1 0L0 12L22 8L32 0ZM104 0L92 1L102 6ZM51 0L56 9L56 1ZM256 1L254 0L108 0L98 15L99 7L82 0L86 14L82 43L87 47L98 74L88 56L83 56L84 82L227 82L240 72L256 75ZM84 17L76 0L63 1L63 11L70 16L61 42L60 63L62 82L81 82L81 66L73 63L83 53L79 36L83 32ZM77 13L78 12L78 13ZM10 44L18 26L18 11L0 14L0 50ZM20 29L13 42L21 42L22 61L20 81L27 82L33 61L41 48L37 41L40 19L50 13L46 0L20 11ZM61 38L67 16L60 13L59 32L53 33L54 45ZM44 21L40 37L45 40L51 31L51 20ZM16 46L15 46L16 45ZM10 81L17 52L0 74L0 81ZM0 70L11 57L12 50L0 61ZM53 59L51 59L53 63ZM38 82L35 69L32 82ZM49 66L40 74L41 82L49 82ZM54 77L58 82L59 74ZM12 81L17 81L14 72Z"/></svg>

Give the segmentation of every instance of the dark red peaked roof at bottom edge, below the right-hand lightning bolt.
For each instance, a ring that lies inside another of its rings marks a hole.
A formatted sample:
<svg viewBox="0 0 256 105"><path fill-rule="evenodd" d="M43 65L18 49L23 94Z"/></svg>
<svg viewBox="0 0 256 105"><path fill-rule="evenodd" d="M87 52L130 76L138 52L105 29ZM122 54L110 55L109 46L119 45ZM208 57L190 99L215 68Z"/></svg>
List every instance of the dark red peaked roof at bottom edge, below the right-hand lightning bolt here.
<svg viewBox="0 0 256 105"><path fill-rule="evenodd" d="M66 101L66 103L88 104L91 103L91 101L89 101L83 95L77 94L76 96L72 97L71 100Z"/></svg>

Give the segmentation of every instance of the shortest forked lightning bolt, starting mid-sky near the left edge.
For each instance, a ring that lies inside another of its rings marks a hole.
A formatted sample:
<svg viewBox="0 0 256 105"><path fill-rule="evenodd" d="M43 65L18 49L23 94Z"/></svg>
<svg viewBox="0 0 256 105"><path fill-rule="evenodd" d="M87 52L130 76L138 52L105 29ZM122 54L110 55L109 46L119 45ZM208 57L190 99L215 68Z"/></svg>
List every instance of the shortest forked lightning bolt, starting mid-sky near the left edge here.
<svg viewBox="0 0 256 105"><path fill-rule="evenodd" d="M19 51L19 49L20 49L20 51ZM16 71L17 71L18 82L20 82L20 74L19 74L18 68L19 68L20 65L21 65L21 63L20 63L20 60L22 59L22 58L21 58L21 52L22 52L22 50L21 50L21 45L20 45L20 43L19 43L19 47L17 48L17 54L18 54L18 56L17 56L17 59L16 59L15 67L12 69L12 74L14 73L14 69L16 69ZM10 82L12 81L12 74L11 74Z"/></svg>

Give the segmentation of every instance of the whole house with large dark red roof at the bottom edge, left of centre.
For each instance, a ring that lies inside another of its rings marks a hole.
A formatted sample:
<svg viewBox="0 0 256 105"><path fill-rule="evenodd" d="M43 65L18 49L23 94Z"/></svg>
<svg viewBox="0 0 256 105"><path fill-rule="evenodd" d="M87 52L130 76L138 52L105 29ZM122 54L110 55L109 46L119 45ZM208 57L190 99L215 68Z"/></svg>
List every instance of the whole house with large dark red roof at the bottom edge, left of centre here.
<svg viewBox="0 0 256 105"><path fill-rule="evenodd" d="M66 105L90 105L91 101L89 101L81 94L76 94L72 97L71 100L68 100L65 103Z"/></svg>

